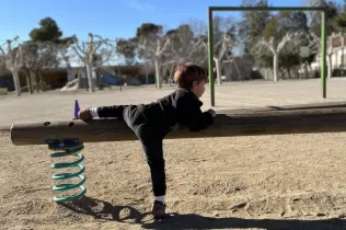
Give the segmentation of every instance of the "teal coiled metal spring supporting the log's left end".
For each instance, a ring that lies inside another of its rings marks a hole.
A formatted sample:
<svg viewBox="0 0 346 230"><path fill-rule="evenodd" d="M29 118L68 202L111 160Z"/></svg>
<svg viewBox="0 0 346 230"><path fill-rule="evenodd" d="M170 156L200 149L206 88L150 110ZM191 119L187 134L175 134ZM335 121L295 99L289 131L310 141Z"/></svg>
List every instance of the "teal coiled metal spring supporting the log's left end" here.
<svg viewBox="0 0 346 230"><path fill-rule="evenodd" d="M60 162L51 164L53 169L66 169L66 168L79 168L78 172L74 173L59 173L54 174L51 176L53 180L68 180L72 177L79 177L80 182L76 184L58 184L53 186L53 191L70 191L74 188L80 188L81 192L72 195L72 196L65 196L65 197L57 197L55 196L53 199L55 202L72 202L74 199L79 199L86 193L86 187L84 186L85 177L83 175L85 171L85 166L83 165L84 156L80 152L84 149L84 146L78 141L78 139L65 139L65 140L48 140L50 150L56 150L58 152L54 152L50 154L51 158L64 158L73 156L78 159L73 162Z"/></svg>

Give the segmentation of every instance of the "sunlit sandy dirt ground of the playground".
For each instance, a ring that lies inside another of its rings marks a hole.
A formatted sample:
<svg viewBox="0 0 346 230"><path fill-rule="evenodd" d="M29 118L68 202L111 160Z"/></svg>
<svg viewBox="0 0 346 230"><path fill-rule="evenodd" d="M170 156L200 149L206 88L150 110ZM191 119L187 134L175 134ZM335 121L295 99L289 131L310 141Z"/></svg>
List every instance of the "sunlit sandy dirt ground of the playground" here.
<svg viewBox="0 0 346 230"><path fill-rule="evenodd" d="M150 102L164 88L0 96L0 124L71 119L81 107ZM216 110L346 101L346 80L217 87ZM204 110L209 107L209 90ZM345 117L346 118L346 117ZM0 133L0 229L346 229L346 134L165 140L168 212L153 221L149 168L138 141L85 143L86 196L58 205L47 146ZM59 159L58 161L70 161ZM66 171L62 171L66 172ZM62 193L64 194L64 193Z"/></svg>

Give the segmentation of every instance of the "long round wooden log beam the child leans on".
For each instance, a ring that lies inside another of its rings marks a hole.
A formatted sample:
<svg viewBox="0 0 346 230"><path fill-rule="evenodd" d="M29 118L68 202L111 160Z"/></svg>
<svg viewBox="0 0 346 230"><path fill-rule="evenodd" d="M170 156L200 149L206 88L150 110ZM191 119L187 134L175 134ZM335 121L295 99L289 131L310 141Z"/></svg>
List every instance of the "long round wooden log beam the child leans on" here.
<svg viewBox="0 0 346 230"><path fill-rule="evenodd" d="M82 142L137 140L125 122L79 119L0 126L16 146L46 145L46 139L79 138ZM166 139L346 131L346 102L219 111L215 124L199 133L178 128Z"/></svg>

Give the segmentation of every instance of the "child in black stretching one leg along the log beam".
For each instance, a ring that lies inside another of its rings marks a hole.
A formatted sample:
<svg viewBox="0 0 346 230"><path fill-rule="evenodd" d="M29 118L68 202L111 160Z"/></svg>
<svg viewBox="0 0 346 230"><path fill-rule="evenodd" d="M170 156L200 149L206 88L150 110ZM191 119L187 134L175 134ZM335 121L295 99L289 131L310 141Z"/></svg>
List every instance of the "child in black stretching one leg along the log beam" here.
<svg viewBox="0 0 346 230"><path fill-rule="evenodd" d="M165 216L165 169L162 141L177 126L191 131L200 131L214 123L216 112L201 112L199 97L205 92L206 71L194 64L178 65L174 80L177 89L150 104L113 105L86 108L79 113L83 120L93 117L116 117L126 122L141 141L151 172L155 196L152 215L155 219Z"/></svg>

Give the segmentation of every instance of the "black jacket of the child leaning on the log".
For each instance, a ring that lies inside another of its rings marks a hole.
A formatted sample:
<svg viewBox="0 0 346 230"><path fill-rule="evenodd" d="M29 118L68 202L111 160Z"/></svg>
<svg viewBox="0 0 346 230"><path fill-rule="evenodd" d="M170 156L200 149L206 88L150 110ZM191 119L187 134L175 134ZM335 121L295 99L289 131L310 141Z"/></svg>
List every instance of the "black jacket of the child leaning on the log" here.
<svg viewBox="0 0 346 230"><path fill-rule="evenodd" d="M201 105L203 103L193 92L177 89L157 102L136 106L147 123L168 133L176 125L187 127L191 131L200 131L211 125L214 117L208 112L201 112ZM99 107L99 116L115 114L112 110L118 110L118 106Z"/></svg>

